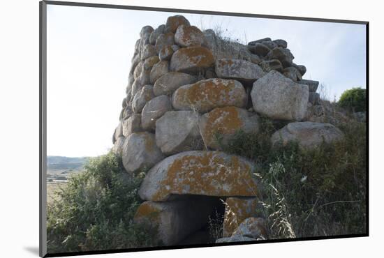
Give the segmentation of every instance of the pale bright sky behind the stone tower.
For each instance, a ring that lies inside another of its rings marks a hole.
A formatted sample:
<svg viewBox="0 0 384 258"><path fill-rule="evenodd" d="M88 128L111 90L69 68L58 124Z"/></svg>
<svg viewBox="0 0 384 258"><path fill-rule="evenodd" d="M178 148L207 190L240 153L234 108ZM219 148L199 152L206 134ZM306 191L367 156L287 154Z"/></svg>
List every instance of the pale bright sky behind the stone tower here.
<svg viewBox="0 0 384 258"><path fill-rule="evenodd" d="M180 13L47 6L47 155L103 155L119 123L135 42L142 26ZM219 29L247 43L284 39L304 79L338 99L365 88L365 25L182 13L200 29Z"/></svg>

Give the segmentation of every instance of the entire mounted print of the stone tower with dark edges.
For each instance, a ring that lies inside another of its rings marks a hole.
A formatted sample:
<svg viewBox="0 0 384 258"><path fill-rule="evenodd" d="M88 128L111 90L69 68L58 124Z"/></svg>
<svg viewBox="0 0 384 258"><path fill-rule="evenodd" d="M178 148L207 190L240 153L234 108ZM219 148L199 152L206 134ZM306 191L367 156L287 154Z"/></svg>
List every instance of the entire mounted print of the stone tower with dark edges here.
<svg viewBox="0 0 384 258"><path fill-rule="evenodd" d="M368 236L367 35L40 2L40 256Z"/></svg>

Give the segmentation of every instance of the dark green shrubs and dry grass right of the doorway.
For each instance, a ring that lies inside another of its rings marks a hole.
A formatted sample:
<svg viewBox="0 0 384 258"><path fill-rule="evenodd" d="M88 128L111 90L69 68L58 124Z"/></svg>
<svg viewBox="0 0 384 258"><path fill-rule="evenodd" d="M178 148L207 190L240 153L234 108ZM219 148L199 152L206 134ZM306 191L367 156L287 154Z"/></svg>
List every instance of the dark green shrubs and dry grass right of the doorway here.
<svg viewBox="0 0 384 258"><path fill-rule="evenodd" d="M284 123L260 120L258 134L239 131L226 144L216 140L221 150L256 162L269 238L367 232L366 124L339 125L342 141L304 151L295 142L272 148L270 137Z"/></svg>

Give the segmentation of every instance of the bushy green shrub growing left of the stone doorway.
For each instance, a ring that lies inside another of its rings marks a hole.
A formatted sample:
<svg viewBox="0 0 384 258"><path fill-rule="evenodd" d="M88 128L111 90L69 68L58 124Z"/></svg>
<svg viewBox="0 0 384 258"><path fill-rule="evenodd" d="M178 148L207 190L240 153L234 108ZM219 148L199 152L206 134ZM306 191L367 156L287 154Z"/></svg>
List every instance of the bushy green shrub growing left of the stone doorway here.
<svg viewBox="0 0 384 258"><path fill-rule="evenodd" d="M89 160L47 207L47 250L79 252L158 245L149 225L133 223L142 202L140 176L124 172L121 158L108 153Z"/></svg>

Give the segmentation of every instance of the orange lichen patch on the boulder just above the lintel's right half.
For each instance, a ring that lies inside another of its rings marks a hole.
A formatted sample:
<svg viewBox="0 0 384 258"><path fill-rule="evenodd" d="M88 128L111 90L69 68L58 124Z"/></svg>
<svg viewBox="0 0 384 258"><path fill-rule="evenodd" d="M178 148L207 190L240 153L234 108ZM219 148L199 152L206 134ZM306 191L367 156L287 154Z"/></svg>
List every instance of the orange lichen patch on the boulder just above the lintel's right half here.
<svg viewBox="0 0 384 258"><path fill-rule="evenodd" d="M243 126L242 119L239 118L237 107L218 107L207 113L207 122L202 133L206 142L214 140L215 133L223 135L233 134Z"/></svg>

